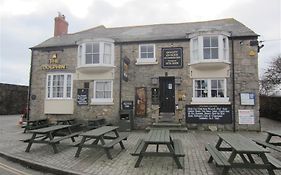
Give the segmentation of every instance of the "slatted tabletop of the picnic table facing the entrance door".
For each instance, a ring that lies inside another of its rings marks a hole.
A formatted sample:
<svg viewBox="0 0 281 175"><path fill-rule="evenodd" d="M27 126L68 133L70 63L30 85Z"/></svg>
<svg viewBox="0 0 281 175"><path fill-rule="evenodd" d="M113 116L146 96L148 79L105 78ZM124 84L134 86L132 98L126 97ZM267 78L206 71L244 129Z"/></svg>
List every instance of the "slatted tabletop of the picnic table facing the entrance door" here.
<svg viewBox="0 0 281 175"><path fill-rule="evenodd" d="M170 131L168 129L151 129L144 139L146 143L170 143Z"/></svg>

